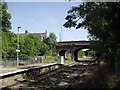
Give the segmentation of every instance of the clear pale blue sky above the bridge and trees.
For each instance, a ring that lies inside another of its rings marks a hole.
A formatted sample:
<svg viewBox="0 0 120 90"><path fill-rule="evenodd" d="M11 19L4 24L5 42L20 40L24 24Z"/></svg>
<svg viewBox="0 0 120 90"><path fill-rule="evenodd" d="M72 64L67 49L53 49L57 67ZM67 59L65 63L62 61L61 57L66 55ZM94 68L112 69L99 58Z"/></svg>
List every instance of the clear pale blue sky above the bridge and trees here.
<svg viewBox="0 0 120 90"><path fill-rule="evenodd" d="M8 2L8 12L12 19L12 32L17 33L17 27L21 27L19 33L28 30L29 33L43 33L47 30L54 32L57 41L88 40L87 30L64 28L67 11L72 6L78 6L80 2Z"/></svg>

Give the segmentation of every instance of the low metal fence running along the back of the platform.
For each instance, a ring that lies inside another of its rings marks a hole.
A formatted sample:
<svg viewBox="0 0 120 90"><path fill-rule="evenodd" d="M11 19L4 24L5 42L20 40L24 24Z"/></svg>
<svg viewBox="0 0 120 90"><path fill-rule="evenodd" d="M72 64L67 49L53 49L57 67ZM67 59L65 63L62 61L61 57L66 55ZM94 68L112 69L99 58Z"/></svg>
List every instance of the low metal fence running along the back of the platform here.
<svg viewBox="0 0 120 90"><path fill-rule="evenodd" d="M38 57L20 57L19 65L29 65L34 63L55 63L57 62L56 57L52 56L38 56ZM16 66L17 59L16 58L2 58L0 64L3 67L7 66Z"/></svg>

